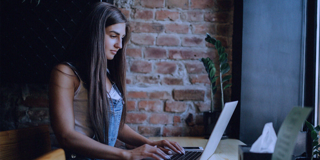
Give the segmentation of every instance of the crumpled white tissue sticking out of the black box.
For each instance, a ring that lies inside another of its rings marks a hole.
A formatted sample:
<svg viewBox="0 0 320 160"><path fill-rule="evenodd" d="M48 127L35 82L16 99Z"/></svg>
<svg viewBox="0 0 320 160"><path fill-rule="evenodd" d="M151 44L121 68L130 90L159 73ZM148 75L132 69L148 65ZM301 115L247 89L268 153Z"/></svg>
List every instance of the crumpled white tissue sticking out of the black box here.
<svg viewBox="0 0 320 160"><path fill-rule="evenodd" d="M273 153L275 150L277 135L272 122L266 123L261 136L252 144L250 152Z"/></svg>

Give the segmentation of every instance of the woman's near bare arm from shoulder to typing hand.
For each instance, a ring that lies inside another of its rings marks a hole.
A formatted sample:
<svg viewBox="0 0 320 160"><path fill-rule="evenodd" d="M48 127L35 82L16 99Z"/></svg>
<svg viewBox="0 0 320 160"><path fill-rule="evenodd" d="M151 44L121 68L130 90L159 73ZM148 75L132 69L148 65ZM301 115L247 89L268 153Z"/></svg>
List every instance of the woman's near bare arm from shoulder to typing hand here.
<svg viewBox="0 0 320 160"><path fill-rule="evenodd" d="M160 160L166 155L149 145L128 151L102 144L74 130L74 92L79 79L67 65L57 65L53 69L49 84L49 108L52 129L63 148L76 154L98 159L142 159L153 157ZM158 156L157 156L158 155Z"/></svg>

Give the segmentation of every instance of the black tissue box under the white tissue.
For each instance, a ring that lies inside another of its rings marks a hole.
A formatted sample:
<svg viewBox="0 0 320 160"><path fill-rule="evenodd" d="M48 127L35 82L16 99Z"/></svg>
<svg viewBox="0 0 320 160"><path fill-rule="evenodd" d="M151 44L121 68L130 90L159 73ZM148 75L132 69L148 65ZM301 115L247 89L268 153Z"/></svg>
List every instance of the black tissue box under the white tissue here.
<svg viewBox="0 0 320 160"><path fill-rule="evenodd" d="M252 153L250 148L251 146L239 146L238 160L271 160L272 153Z"/></svg>

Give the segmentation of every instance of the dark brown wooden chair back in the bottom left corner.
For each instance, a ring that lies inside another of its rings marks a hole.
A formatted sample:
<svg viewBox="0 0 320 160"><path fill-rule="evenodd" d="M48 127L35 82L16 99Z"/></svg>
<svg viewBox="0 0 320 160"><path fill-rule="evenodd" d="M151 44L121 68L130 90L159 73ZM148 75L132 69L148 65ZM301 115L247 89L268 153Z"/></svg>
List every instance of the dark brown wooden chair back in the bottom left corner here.
<svg viewBox="0 0 320 160"><path fill-rule="evenodd" d="M51 151L49 134L48 125L0 132L0 159L30 160L44 155Z"/></svg>

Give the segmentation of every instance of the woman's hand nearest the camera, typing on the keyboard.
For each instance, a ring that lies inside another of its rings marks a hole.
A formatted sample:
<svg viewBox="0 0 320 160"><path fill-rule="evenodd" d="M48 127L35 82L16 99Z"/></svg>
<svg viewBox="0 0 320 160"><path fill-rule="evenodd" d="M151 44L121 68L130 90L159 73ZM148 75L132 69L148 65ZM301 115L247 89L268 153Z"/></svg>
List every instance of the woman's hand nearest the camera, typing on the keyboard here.
<svg viewBox="0 0 320 160"><path fill-rule="evenodd" d="M124 159L126 160L139 160L143 158L151 157L157 160L170 159L160 148L156 146L150 146L148 144L142 145L132 150L126 150Z"/></svg>

